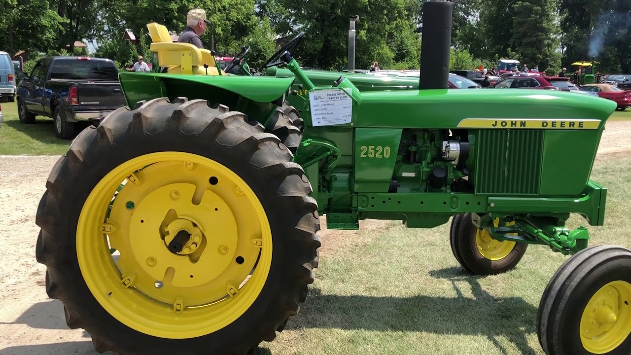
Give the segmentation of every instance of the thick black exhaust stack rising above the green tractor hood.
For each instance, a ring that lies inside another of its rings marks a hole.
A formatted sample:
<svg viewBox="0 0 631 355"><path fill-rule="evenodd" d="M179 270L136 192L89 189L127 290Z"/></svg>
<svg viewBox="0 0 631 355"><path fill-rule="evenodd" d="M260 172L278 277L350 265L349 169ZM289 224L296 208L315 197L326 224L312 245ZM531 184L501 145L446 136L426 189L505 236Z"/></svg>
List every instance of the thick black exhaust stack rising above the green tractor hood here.
<svg viewBox="0 0 631 355"><path fill-rule="evenodd" d="M421 38L421 75L418 88L447 88L453 3L423 0Z"/></svg>

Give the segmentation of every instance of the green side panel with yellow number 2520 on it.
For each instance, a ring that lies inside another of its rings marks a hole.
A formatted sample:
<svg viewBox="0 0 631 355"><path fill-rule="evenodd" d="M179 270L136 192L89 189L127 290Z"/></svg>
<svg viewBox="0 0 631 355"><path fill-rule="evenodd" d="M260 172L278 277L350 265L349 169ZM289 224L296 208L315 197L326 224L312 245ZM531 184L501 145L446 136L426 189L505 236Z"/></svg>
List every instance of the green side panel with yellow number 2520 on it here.
<svg viewBox="0 0 631 355"><path fill-rule="evenodd" d="M403 129L355 129L355 191L387 192Z"/></svg>

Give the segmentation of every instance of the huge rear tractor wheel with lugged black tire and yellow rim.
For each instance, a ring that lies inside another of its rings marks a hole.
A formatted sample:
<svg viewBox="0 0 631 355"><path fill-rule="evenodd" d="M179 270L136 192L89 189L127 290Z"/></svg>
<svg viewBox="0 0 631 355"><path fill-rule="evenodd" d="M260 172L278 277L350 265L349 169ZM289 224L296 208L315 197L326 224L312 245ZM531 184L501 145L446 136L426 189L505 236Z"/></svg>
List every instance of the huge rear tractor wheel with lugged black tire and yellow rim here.
<svg viewBox="0 0 631 355"><path fill-rule="evenodd" d="M121 355L245 354L273 340L305 301L320 246L291 160L261 124L206 100L122 107L81 131L36 217L37 261L68 327Z"/></svg>

